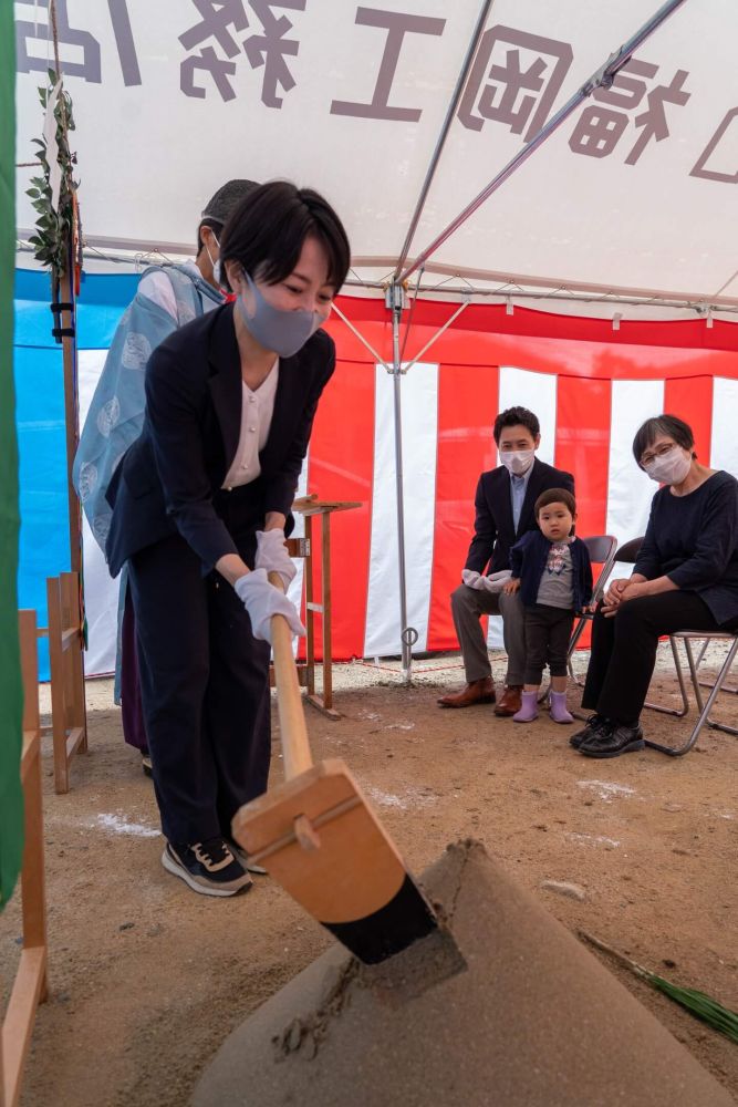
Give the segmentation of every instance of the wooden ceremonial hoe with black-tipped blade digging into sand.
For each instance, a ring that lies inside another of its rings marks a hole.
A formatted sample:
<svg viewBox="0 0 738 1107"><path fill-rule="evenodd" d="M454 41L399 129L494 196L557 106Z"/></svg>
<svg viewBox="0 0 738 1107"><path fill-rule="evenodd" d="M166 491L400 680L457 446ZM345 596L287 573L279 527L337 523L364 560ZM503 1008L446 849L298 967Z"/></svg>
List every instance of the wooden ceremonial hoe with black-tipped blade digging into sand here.
<svg viewBox="0 0 738 1107"><path fill-rule="evenodd" d="M277 573L269 580L282 588ZM360 961L376 964L438 922L344 762L313 764L282 615L271 634L284 783L237 811L233 838Z"/></svg>

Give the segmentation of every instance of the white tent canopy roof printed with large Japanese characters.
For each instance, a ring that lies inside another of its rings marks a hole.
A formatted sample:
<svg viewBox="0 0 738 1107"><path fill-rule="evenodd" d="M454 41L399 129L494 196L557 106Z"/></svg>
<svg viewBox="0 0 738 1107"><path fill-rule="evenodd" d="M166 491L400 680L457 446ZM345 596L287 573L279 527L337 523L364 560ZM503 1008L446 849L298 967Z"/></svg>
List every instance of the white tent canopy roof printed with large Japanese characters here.
<svg viewBox="0 0 738 1107"><path fill-rule="evenodd" d="M643 0L56 8L87 241L187 252L225 179L285 177L334 203L360 280L396 268L465 63L410 259L653 15ZM23 163L53 50L44 0L15 9ZM732 0L685 0L428 258L424 286L738 307L736 41ZM19 173L21 237L24 187Z"/></svg>

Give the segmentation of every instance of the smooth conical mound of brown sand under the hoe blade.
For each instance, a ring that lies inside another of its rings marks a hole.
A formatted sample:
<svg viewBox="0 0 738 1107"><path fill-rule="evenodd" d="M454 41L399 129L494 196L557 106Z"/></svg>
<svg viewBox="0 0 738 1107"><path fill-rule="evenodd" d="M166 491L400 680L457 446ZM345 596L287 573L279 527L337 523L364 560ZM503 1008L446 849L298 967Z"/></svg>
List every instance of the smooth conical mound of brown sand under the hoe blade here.
<svg viewBox="0 0 738 1107"><path fill-rule="evenodd" d="M330 950L230 1035L194 1107L732 1107L481 846L424 884L466 970L433 942L376 969Z"/></svg>

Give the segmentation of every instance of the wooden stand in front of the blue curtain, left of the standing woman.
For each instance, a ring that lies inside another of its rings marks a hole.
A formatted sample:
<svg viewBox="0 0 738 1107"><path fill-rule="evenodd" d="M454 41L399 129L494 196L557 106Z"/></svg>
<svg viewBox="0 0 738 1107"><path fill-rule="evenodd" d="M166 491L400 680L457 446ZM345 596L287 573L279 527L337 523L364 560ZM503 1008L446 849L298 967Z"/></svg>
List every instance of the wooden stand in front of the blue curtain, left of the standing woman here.
<svg viewBox="0 0 738 1107"><path fill-rule="evenodd" d="M80 576L62 572L46 580L49 662L51 668L51 733L54 745L54 790L70 790L70 762L87 752L84 699L83 629ZM43 634L44 631L40 631Z"/></svg>

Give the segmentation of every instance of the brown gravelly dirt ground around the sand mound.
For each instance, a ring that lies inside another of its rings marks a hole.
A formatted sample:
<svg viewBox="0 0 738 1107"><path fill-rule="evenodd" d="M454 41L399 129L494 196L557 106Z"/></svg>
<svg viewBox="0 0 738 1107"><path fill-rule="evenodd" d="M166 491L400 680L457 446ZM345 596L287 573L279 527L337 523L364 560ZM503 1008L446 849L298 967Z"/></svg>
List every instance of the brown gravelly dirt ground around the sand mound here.
<svg viewBox="0 0 738 1107"><path fill-rule="evenodd" d="M706 672L723 649L710 649ZM501 675L500 656L492 663ZM582 652L578 672L585 663ZM342 717L306 711L315 758L347 762L415 872L449 841L478 838L571 930L738 1010L738 738L709 731L684 758L646 749L592 762L545 716L517 725L489 707L439 711L438 690L462 679L455 654L417 660L409 687L397 661L335 666ZM652 697L673 703L675 690L662 646ZM90 681L87 704L90 754L75 759L66 796L53 794L44 739L51 993L22 1105L180 1107L226 1035L332 939L268 878L214 902L167 875L112 681ZM738 723L737 708L725 696L718 714ZM671 742L690 725L655 712L644 723ZM276 783L276 714L273 732ZM19 899L0 918L0 995L18 960ZM609 968L738 1093L735 1044Z"/></svg>

